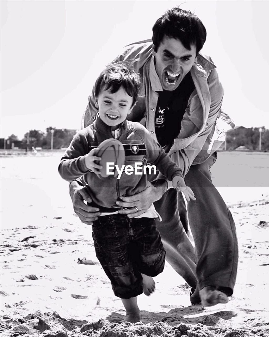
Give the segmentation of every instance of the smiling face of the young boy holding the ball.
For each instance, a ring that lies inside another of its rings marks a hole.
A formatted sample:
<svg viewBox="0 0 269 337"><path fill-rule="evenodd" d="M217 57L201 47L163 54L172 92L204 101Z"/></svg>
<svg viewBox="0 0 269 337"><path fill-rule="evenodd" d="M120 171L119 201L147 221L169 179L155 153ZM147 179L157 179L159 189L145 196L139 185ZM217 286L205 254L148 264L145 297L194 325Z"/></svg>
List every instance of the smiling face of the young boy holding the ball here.
<svg viewBox="0 0 269 337"><path fill-rule="evenodd" d="M110 88L109 88L110 89ZM115 93L101 89L96 100L101 120L109 126L121 124L132 110L133 97L120 87Z"/></svg>

